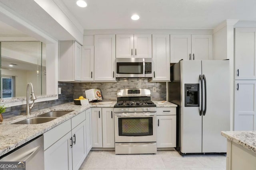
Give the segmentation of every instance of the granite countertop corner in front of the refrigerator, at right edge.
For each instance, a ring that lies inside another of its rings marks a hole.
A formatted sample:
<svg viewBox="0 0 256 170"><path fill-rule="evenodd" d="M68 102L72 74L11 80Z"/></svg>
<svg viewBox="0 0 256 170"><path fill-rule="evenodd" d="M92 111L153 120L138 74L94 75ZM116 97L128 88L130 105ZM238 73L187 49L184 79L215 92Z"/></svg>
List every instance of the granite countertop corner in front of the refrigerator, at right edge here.
<svg viewBox="0 0 256 170"><path fill-rule="evenodd" d="M256 131L222 131L221 135L256 153Z"/></svg>

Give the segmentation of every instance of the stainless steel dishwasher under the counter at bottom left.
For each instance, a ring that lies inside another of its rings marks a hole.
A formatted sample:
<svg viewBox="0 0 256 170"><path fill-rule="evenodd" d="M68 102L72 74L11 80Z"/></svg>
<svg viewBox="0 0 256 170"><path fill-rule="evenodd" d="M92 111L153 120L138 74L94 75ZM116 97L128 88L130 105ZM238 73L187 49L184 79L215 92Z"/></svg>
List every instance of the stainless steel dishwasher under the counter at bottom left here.
<svg viewBox="0 0 256 170"><path fill-rule="evenodd" d="M44 170L44 136L40 136L4 155L2 161L26 162L26 170Z"/></svg>

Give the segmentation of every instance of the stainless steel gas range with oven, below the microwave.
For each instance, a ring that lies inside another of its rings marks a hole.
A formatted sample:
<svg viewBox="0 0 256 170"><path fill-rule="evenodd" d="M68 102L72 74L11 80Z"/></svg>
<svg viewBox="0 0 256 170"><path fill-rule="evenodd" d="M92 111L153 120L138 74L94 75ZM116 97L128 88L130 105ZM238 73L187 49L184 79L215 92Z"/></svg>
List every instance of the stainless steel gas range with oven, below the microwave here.
<svg viewBox="0 0 256 170"><path fill-rule="evenodd" d="M156 105L149 89L123 89L114 106L116 154L156 153Z"/></svg>

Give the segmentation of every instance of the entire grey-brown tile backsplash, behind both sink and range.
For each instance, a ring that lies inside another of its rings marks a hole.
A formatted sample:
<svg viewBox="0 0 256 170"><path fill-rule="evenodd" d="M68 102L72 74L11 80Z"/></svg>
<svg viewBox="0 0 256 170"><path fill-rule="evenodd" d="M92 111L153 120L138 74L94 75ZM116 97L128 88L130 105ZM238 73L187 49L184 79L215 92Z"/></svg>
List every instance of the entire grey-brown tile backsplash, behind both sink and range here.
<svg viewBox="0 0 256 170"><path fill-rule="evenodd" d="M166 82L148 82L147 78L117 79L117 82L58 82L58 87L61 87L62 92L58 95L58 100L35 103L31 111L73 102L73 99L79 96L86 97L84 91L91 88L100 89L104 100L116 100L117 90L123 88L148 88L151 91L151 100L166 100ZM156 87L156 92L153 92L153 87ZM7 119L24 113L25 109L26 105L8 107L2 115Z"/></svg>

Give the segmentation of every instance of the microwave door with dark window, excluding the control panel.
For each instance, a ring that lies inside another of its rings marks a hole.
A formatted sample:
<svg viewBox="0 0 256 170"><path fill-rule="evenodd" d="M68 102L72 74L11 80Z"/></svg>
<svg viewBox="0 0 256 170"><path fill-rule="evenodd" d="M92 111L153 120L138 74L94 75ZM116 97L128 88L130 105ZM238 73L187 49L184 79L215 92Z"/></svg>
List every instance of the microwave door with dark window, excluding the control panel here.
<svg viewBox="0 0 256 170"><path fill-rule="evenodd" d="M143 58L116 59L116 77L144 77L145 61Z"/></svg>

